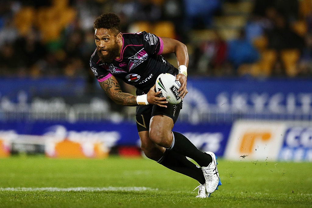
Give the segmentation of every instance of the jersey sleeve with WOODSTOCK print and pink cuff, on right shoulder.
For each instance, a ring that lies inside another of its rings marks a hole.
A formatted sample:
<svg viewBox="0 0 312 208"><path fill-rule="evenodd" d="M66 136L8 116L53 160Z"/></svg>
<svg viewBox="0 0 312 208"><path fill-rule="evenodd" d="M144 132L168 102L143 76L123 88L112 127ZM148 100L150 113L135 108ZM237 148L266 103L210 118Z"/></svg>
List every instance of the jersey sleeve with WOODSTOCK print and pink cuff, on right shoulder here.
<svg viewBox="0 0 312 208"><path fill-rule="evenodd" d="M143 45L150 55L160 55L163 52L163 40L153 33L143 32Z"/></svg>

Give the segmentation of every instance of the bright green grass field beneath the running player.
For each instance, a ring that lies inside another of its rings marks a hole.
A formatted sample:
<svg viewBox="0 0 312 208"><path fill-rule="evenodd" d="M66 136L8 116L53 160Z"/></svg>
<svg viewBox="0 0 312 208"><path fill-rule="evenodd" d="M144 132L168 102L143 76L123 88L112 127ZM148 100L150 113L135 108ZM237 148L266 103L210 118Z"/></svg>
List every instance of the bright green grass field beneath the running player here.
<svg viewBox="0 0 312 208"><path fill-rule="evenodd" d="M2 158L0 207L312 207L312 163L218 162L222 186L198 199L197 181L144 158Z"/></svg>

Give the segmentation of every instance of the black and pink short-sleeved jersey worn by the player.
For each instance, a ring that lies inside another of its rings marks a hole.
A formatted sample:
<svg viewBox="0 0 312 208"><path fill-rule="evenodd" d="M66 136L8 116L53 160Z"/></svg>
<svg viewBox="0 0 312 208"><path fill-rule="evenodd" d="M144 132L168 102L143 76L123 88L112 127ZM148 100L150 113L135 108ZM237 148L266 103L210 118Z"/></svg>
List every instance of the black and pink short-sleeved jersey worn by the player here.
<svg viewBox="0 0 312 208"><path fill-rule="evenodd" d="M101 62L97 50L92 54L90 67L99 82L114 75L147 92L161 73L177 74L178 70L160 55L163 52L160 37L143 31L124 33L122 40L120 58L114 59L111 64Z"/></svg>

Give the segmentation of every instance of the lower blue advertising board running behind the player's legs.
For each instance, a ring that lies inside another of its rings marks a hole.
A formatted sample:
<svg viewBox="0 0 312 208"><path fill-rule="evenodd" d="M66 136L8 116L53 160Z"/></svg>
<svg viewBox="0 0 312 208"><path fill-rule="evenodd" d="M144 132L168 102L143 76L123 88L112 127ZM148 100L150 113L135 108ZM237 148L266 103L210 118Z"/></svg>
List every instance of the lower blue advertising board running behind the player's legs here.
<svg viewBox="0 0 312 208"><path fill-rule="evenodd" d="M173 131L183 133L203 151L222 156L231 125L190 125L177 123ZM135 123L90 123L90 122L0 122L1 131L13 130L23 135L49 135L53 137L75 137L82 140L103 139L108 147L140 146Z"/></svg>

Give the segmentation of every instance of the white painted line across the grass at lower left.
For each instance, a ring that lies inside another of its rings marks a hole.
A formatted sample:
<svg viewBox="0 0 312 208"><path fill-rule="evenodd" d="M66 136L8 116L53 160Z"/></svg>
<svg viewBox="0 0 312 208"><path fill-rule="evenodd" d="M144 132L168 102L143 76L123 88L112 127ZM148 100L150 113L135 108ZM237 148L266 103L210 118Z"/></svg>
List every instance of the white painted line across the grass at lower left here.
<svg viewBox="0 0 312 208"><path fill-rule="evenodd" d="M47 191L47 192L98 192L98 191L157 191L149 187L72 187L72 188L57 188L57 187L42 187L42 188L0 188L0 191Z"/></svg>

